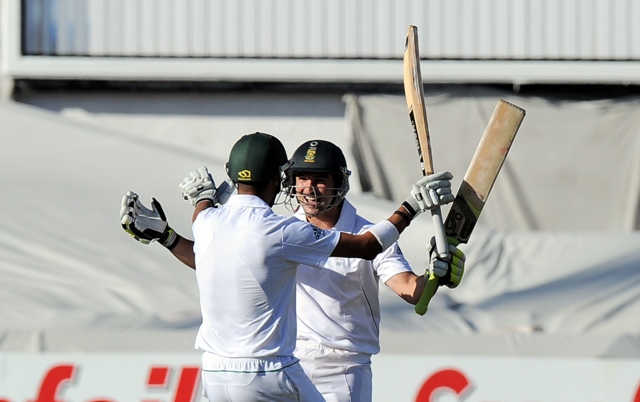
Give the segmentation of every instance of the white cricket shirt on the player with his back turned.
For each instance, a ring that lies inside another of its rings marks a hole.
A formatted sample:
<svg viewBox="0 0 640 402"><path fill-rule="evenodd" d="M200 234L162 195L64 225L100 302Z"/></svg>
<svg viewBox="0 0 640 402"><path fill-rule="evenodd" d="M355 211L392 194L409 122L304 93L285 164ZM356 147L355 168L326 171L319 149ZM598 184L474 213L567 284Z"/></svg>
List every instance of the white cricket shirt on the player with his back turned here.
<svg viewBox="0 0 640 402"><path fill-rule="evenodd" d="M202 325L197 349L227 358L292 355L299 264L321 268L340 234L233 195L193 223ZM313 269L313 268L309 268Z"/></svg>

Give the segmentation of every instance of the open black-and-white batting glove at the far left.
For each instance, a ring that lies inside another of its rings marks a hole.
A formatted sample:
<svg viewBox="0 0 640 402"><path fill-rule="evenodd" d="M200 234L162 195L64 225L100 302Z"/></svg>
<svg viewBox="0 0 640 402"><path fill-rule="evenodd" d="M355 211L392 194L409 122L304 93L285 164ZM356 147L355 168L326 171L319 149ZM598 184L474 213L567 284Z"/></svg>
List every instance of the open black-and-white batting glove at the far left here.
<svg viewBox="0 0 640 402"><path fill-rule="evenodd" d="M142 205L138 194L127 192L122 197L120 206L120 223L125 232L142 244L157 241L168 249L178 242L178 235L167 223L162 206L155 199L151 200L151 208Z"/></svg>

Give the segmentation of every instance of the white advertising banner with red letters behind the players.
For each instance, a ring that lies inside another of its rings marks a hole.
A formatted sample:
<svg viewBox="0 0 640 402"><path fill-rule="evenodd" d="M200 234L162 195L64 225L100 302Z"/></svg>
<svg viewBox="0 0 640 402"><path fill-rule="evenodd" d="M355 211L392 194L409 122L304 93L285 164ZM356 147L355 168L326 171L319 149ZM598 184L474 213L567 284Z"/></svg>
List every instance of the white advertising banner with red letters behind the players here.
<svg viewBox="0 0 640 402"><path fill-rule="evenodd" d="M640 361L379 355L375 402L640 402ZM0 354L0 402L205 402L200 355Z"/></svg>

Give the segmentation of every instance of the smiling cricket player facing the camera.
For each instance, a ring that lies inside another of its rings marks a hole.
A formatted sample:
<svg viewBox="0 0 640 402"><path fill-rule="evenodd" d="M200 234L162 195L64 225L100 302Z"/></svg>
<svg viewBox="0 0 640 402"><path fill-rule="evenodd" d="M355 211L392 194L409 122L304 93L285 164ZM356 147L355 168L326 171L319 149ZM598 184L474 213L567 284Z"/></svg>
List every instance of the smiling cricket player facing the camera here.
<svg viewBox="0 0 640 402"><path fill-rule="evenodd" d="M353 234L372 225L345 199L350 172L333 143L303 143L285 175L288 200L297 202L290 205L300 220ZM435 274L453 288L462 278L465 256L453 245L449 248L448 261L437 259L433 247L430 260ZM414 305L426 286L424 275L411 270L397 243L373 260L332 257L322 270L298 267L294 355L327 401L372 400L371 356L380 351L379 280Z"/></svg>

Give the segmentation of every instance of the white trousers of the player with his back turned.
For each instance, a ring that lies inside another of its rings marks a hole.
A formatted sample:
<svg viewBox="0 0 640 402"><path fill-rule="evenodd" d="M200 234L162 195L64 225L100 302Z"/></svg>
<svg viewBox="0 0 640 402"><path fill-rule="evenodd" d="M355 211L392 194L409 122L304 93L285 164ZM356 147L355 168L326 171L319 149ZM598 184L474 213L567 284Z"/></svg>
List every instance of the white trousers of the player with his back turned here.
<svg viewBox="0 0 640 402"><path fill-rule="evenodd" d="M298 359L227 359L205 352L202 393L209 402L324 402Z"/></svg>

